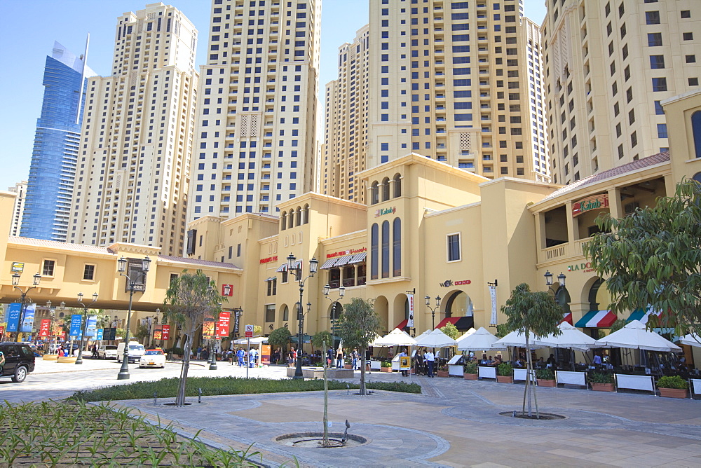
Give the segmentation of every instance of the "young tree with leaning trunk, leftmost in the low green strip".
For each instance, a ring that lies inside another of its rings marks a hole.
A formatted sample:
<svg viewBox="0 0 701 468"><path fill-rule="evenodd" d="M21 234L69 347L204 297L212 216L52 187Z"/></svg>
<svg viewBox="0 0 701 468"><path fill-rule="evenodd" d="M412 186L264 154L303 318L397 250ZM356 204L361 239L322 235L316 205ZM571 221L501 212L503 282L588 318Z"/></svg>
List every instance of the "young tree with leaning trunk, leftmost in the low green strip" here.
<svg viewBox="0 0 701 468"><path fill-rule="evenodd" d="M219 303L226 298L219 296L215 282L207 280L202 270L193 275L183 270L182 275L170 282L165 293L164 318L178 324L186 334L185 355L175 404L185 404L185 383L190 366L190 350L195 331L200 327L207 312L219 313Z"/></svg>

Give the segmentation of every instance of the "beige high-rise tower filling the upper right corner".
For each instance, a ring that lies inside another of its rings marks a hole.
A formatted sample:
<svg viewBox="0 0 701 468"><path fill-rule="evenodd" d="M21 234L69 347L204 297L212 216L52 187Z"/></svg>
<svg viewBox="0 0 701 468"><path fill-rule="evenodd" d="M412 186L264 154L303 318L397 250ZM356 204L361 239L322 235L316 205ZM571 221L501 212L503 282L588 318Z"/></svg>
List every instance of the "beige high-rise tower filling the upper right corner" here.
<svg viewBox="0 0 701 468"><path fill-rule="evenodd" d="M548 1L541 32L553 182L669 147L660 102L699 88L701 1Z"/></svg>

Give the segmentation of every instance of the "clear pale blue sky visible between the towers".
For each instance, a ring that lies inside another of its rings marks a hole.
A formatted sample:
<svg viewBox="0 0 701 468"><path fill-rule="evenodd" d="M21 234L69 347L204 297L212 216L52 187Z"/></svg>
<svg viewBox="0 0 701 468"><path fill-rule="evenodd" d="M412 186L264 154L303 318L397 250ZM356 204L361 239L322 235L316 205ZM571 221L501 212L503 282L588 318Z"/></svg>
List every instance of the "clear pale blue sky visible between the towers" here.
<svg viewBox="0 0 701 468"><path fill-rule="evenodd" d="M90 32L88 64L97 74L109 74L116 18L143 9L156 0L1 0L0 43L0 190L29 176L34 128L41 112L43 66L53 41L76 55L83 53ZM199 31L197 65L205 63L210 0L171 0ZM323 0L320 92L336 78L338 47L367 23L367 0ZM524 0L526 16L545 16L545 0ZM29 26L31 25L31 27ZM31 28L31 29L30 29Z"/></svg>

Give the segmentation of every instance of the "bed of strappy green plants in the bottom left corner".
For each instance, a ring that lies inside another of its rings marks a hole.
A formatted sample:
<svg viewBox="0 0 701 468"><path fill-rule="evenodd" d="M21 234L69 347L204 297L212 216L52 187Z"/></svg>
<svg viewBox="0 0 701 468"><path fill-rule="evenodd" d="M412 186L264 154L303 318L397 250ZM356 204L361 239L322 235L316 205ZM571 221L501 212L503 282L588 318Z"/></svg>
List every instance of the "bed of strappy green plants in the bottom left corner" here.
<svg viewBox="0 0 701 468"><path fill-rule="evenodd" d="M131 411L75 401L5 401L0 406L0 466L254 467L262 461L250 447L210 448Z"/></svg>

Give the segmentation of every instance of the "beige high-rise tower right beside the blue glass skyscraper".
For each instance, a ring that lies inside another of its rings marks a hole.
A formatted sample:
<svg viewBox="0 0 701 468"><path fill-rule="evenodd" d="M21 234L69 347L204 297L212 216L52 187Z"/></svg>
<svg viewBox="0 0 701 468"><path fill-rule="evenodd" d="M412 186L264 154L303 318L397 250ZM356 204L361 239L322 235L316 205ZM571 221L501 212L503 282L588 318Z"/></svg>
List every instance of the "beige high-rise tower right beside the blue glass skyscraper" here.
<svg viewBox="0 0 701 468"><path fill-rule="evenodd" d="M118 18L112 74L88 80L69 242L182 254L196 44L172 6Z"/></svg>

